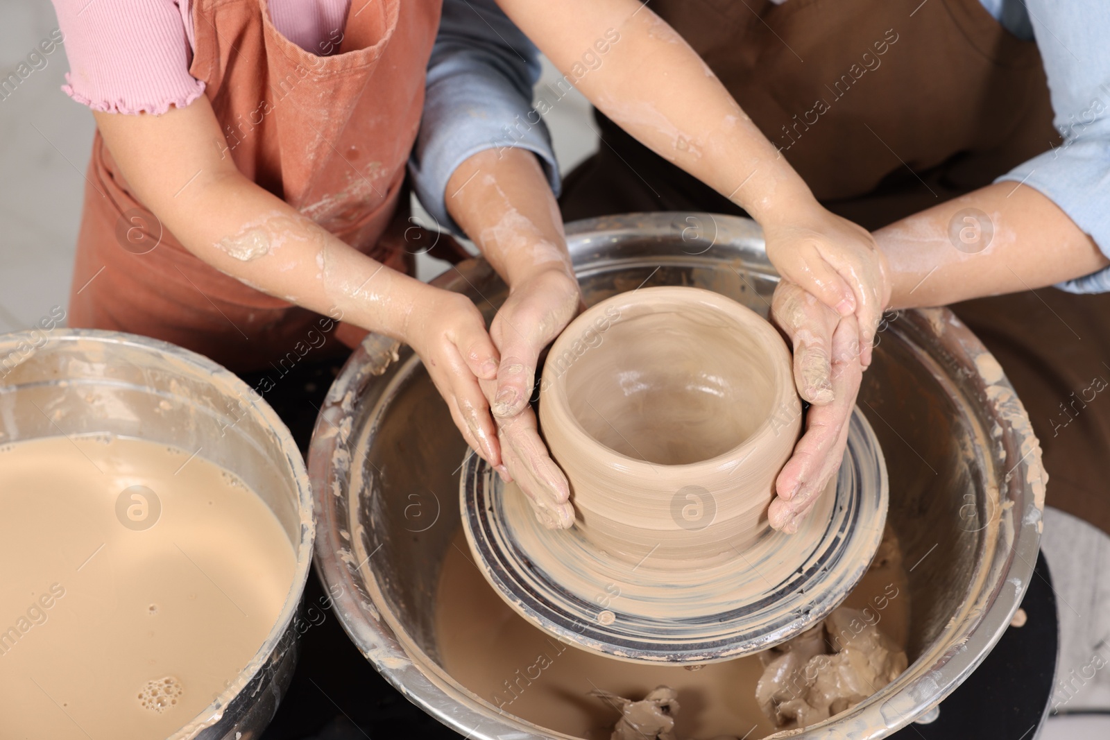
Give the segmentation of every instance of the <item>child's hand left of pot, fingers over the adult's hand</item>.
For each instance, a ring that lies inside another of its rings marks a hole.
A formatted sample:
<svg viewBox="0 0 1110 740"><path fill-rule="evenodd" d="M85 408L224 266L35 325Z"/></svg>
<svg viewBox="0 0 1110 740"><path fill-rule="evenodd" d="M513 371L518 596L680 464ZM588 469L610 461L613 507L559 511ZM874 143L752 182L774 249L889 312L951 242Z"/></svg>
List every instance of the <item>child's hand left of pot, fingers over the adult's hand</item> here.
<svg viewBox="0 0 1110 740"><path fill-rule="evenodd" d="M432 383L451 409L463 438L490 465L501 468L501 446L478 379L497 377L497 349L482 312L465 295L417 284L403 339L424 361Z"/></svg>

